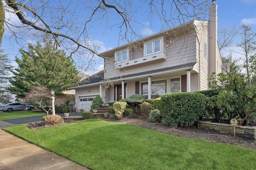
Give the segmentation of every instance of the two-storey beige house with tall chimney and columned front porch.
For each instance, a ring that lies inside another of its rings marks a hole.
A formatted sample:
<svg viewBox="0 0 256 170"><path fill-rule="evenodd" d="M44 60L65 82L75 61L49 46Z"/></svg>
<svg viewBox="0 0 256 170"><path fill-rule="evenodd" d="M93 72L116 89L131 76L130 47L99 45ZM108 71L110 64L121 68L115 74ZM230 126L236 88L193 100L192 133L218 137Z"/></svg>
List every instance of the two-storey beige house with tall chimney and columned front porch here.
<svg viewBox="0 0 256 170"><path fill-rule="evenodd" d="M212 72L222 72L217 6L213 1L209 7L209 21L192 20L101 55L110 59L105 60L105 71L69 88L76 90L77 106L90 104L96 95L107 103L133 94L150 99L206 90Z"/></svg>

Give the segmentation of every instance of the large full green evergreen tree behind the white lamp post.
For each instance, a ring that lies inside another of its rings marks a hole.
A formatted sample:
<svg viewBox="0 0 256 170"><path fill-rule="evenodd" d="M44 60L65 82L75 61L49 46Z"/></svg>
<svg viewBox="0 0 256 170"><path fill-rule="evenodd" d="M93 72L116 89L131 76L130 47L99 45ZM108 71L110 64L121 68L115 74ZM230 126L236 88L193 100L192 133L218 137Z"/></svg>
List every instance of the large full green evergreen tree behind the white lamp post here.
<svg viewBox="0 0 256 170"><path fill-rule="evenodd" d="M58 95L79 80L74 62L66 56L64 50L58 50L49 39L44 45L37 42L29 44L28 51L20 49L21 59L16 57L18 68L12 71L9 90L24 98L33 86L54 89Z"/></svg>

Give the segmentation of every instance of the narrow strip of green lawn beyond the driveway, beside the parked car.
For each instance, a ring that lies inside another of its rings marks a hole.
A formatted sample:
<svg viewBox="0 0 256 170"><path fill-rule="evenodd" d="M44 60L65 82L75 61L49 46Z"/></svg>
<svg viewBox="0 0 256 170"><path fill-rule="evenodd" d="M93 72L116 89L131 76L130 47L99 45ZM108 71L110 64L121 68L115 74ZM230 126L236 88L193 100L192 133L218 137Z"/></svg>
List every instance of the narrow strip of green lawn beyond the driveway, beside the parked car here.
<svg viewBox="0 0 256 170"><path fill-rule="evenodd" d="M42 111L24 111L24 112L11 112L11 113L1 113L0 120L6 119L14 119L14 118L21 118L21 117L33 117L33 116L44 116L46 115L45 112Z"/></svg>

